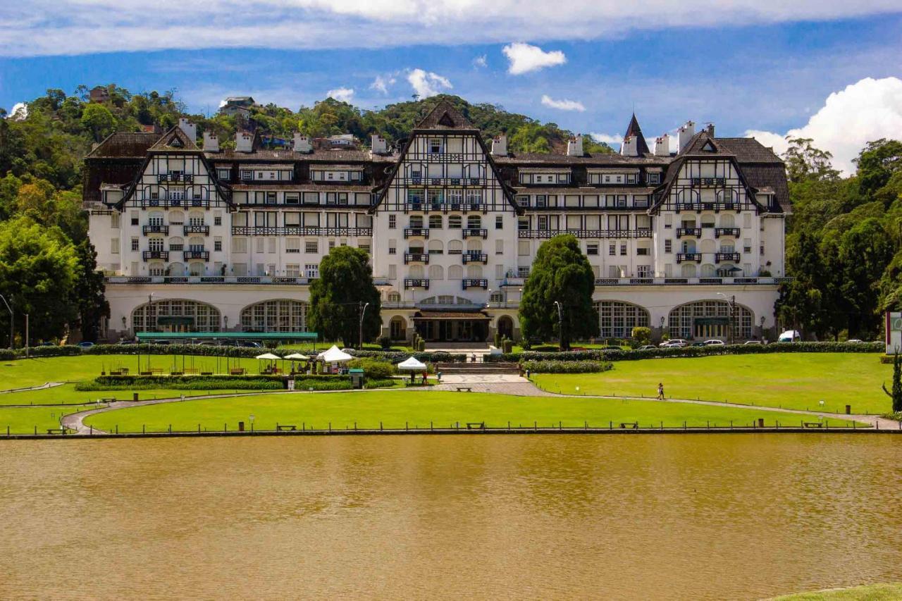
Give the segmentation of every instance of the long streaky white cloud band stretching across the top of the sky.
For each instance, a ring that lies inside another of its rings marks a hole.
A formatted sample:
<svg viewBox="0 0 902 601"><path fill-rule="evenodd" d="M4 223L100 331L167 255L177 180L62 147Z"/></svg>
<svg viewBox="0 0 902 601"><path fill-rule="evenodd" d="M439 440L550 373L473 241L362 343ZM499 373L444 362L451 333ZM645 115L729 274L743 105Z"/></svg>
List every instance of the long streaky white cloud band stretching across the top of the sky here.
<svg viewBox="0 0 902 601"><path fill-rule="evenodd" d="M235 20L234 0L157 0L152 19L146 0L0 3L0 56L592 40L668 27L889 14L897 12L898 0L244 0L241 6L253 20Z"/></svg>

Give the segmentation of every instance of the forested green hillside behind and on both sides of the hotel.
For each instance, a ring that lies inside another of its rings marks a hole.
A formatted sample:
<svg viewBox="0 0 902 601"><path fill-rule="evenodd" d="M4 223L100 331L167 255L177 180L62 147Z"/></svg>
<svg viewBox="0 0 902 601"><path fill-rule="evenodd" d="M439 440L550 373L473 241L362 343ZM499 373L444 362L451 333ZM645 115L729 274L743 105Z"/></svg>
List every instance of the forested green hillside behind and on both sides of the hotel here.
<svg viewBox="0 0 902 601"><path fill-rule="evenodd" d="M483 134L507 132L515 152L563 152L572 134L454 96L372 111L332 98L297 110L256 106L239 121L188 115L171 92L132 94L113 85L107 90L108 100L90 103L87 87L69 96L51 89L27 103L26 111L0 118L0 294L17 315L31 315L32 340L64 336L68 327L81 328L90 339L106 310L80 210L80 181L91 144L114 131L167 129L188 116L198 131L216 133L225 147L237 128L285 138L295 131L314 137L350 133L364 141L377 133L397 142L444 98ZM612 152L591 140L584 147ZM778 302L782 323L822 338L877 336L881 312L902 309L902 143L869 143L857 173L848 178L810 140L793 141L785 158L794 206L787 223L787 275L796 281L784 287ZM8 319L0 305L0 341L8 336ZM22 331L20 317L20 339Z"/></svg>

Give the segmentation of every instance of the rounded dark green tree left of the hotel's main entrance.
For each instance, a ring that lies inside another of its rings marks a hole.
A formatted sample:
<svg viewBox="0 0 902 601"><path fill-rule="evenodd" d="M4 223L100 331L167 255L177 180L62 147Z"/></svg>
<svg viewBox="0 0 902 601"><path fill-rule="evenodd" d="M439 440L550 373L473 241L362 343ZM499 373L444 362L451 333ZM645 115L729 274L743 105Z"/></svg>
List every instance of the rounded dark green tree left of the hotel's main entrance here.
<svg viewBox="0 0 902 601"><path fill-rule="evenodd" d="M310 325L326 340L341 339L356 346L360 311L364 312L364 341L382 331L379 291L373 285L369 255L359 248L336 246L319 263L319 277L310 284Z"/></svg>

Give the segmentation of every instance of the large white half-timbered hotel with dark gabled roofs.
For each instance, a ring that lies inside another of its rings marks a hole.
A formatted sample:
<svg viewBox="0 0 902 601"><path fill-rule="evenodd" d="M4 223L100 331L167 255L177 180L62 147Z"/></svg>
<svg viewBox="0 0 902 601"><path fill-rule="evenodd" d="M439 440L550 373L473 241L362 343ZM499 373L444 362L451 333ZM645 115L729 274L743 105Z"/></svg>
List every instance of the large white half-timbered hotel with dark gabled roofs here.
<svg viewBox="0 0 902 601"><path fill-rule="evenodd" d="M482 342L520 334L538 246L576 236L595 273L603 337L773 338L787 180L751 138L687 123L649 147L635 116L619 154L511 153L442 102L389 148L221 150L182 120L116 133L87 155L84 200L106 278L105 336L298 332L309 282L335 245L365 249L383 333ZM731 302L735 298L735 304ZM566 299L562 299L565 302Z"/></svg>

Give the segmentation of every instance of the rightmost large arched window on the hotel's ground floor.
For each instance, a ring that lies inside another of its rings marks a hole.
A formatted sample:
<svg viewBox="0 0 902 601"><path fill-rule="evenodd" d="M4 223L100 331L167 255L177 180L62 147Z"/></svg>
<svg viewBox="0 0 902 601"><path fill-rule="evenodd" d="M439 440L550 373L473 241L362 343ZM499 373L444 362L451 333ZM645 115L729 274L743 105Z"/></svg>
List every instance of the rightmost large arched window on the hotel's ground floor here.
<svg viewBox="0 0 902 601"><path fill-rule="evenodd" d="M727 338L731 322L727 301L695 301L670 311L668 320L671 338L691 340L699 338ZM733 339L752 337L755 316L747 307L736 305L732 314Z"/></svg>

